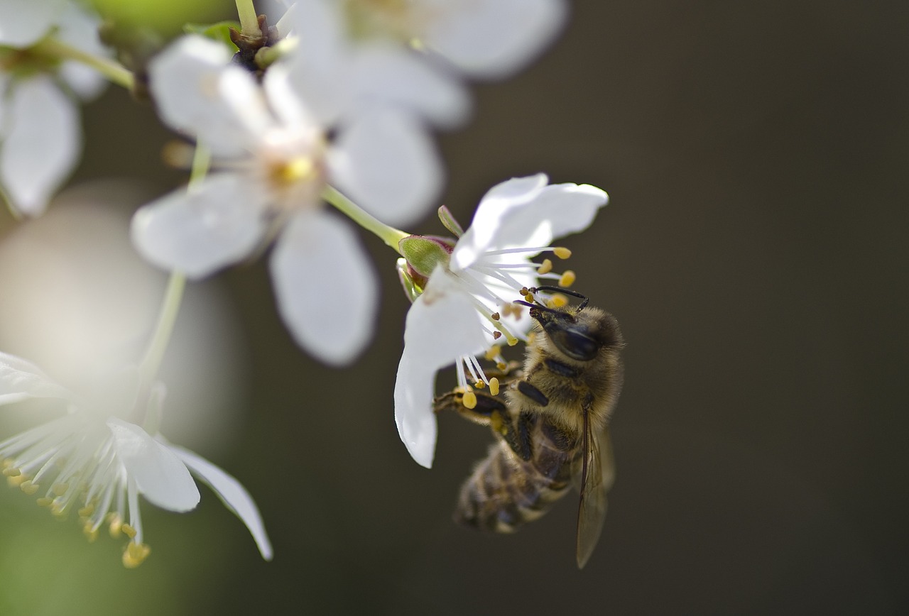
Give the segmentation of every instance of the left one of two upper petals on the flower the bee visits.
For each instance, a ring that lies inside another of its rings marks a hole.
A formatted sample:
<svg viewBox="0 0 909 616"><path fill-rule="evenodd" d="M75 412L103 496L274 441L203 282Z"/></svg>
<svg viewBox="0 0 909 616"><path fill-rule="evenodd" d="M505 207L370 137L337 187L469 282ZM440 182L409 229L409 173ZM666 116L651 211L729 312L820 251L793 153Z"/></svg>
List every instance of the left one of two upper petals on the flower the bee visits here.
<svg viewBox="0 0 909 616"><path fill-rule="evenodd" d="M513 211L520 211L533 201L547 182L545 174L535 174L514 177L490 188L476 207L474 221L454 246L452 269L456 271L469 267L480 254L492 250L493 246L504 247L499 241L504 220ZM527 230L524 238L512 233L515 236L514 246L534 245L521 241L529 239L533 233L534 229Z"/></svg>

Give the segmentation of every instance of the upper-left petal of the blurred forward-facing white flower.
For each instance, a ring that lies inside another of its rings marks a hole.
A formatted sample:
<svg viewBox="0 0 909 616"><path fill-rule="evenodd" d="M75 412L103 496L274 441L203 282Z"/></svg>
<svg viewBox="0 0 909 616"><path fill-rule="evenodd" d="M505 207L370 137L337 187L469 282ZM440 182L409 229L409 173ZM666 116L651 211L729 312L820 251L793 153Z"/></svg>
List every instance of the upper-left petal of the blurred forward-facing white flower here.
<svg viewBox="0 0 909 616"><path fill-rule="evenodd" d="M190 35L148 69L165 122L224 156L242 153L272 124L255 79L230 59L224 45Z"/></svg>

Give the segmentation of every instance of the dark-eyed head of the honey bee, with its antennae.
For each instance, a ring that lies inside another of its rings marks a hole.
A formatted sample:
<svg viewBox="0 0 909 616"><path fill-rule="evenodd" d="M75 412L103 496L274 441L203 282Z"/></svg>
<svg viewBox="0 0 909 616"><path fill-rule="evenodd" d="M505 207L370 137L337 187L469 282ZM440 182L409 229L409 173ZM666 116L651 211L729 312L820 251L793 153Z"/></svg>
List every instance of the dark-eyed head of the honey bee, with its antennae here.
<svg viewBox="0 0 909 616"><path fill-rule="evenodd" d="M558 287L540 286L533 291L558 291L559 293L568 293L575 297L582 298L582 302L577 308L549 308L539 303L521 302L530 306L530 316L532 316L540 326L549 340L555 345L560 352L564 353L571 359L578 362L591 362L596 358L604 341L592 329L592 324L588 319L578 318L578 315L587 305L587 297L580 294L560 289Z"/></svg>

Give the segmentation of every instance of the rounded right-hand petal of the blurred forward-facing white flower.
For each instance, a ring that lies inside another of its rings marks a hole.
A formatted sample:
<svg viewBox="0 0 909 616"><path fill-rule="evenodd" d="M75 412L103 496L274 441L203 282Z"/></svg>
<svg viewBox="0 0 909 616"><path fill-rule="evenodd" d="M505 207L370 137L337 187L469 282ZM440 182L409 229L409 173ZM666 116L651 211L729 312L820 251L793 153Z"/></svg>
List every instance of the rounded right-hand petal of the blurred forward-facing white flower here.
<svg viewBox="0 0 909 616"><path fill-rule="evenodd" d="M425 126L407 114L357 114L329 153L331 181L386 224L411 224L435 206L443 169Z"/></svg>

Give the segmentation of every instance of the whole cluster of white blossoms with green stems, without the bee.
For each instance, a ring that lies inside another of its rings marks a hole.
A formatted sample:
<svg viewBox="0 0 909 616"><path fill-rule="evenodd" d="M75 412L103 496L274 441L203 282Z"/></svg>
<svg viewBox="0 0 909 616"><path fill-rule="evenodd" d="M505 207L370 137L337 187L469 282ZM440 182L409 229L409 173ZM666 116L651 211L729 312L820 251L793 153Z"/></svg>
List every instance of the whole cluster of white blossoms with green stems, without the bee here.
<svg viewBox="0 0 909 616"><path fill-rule="evenodd" d="M503 343L526 340L530 319L514 300L557 301L535 287L574 280L537 257L567 258L554 239L587 228L607 202L594 186L532 174L492 187L466 229L438 204L446 178L434 131L467 122L469 80L502 79L540 55L561 31L566 3L298 0L267 17L251 13L249 0L236 4L238 27L178 37L147 65L129 67L134 75L102 45L87 5L0 0L5 201L17 217L42 214L78 162L79 102L106 81L137 89L137 75L147 75L142 85L161 121L185 139L192 172L188 186L135 212L135 250L171 274L171 289L267 253L288 332L318 360L345 366L375 328L380 289L356 226L375 233L397 253L413 302L395 422L407 451L429 467L435 373L454 364L462 391L495 388L478 357L501 363ZM398 228L434 210L450 236ZM148 352L105 374L93 396L0 353L0 404L44 399L62 409L54 422L0 442L4 474L51 512L77 512L89 538L102 525L125 533L130 567L149 553L139 496L190 511L200 498L195 476L270 559L249 493L158 432L165 388L156 373L178 307L179 293L169 292Z"/></svg>

